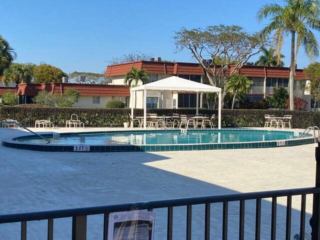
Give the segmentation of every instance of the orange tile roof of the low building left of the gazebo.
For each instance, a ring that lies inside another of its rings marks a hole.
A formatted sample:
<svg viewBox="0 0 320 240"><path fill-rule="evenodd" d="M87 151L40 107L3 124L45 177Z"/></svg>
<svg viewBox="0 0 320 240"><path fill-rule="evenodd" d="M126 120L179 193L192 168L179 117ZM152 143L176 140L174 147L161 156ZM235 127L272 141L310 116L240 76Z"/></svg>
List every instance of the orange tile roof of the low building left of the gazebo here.
<svg viewBox="0 0 320 240"><path fill-rule="evenodd" d="M41 90L61 94L66 89L72 88L80 96L130 96L130 90L125 85L111 84L82 84L82 83L28 83L19 84L18 95L36 95Z"/></svg>

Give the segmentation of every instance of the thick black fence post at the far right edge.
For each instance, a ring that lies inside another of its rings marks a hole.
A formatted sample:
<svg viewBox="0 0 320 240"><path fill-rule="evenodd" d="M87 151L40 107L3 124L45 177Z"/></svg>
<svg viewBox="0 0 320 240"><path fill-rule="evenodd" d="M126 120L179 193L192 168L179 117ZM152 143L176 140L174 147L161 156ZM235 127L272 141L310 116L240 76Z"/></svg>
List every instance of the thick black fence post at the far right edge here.
<svg viewBox="0 0 320 240"><path fill-rule="evenodd" d="M315 187L320 187L320 143L315 147ZM310 219L311 239L320 239L320 194L314 193L312 200L312 217Z"/></svg>

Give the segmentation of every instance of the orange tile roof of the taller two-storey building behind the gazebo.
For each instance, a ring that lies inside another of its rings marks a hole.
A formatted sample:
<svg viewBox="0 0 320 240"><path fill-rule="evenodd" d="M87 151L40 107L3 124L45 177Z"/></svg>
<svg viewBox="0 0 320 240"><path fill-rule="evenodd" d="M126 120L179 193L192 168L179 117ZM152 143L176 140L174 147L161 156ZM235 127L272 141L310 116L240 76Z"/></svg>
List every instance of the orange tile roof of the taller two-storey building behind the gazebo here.
<svg viewBox="0 0 320 240"><path fill-rule="evenodd" d="M149 74L190 74L190 75L205 75L203 69L198 63L191 62L162 62L162 61L135 61L127 62L115 65L109 65L106 68L106 76L120 76L124 75L130 70L132 66L138 69L145 69ZM226 75L234 69L234 66L226 71ZM274 66L256 66L256 65L243 65L238 74L243 74L246 76L256 76L256 77L289 77L288 67L274 67ZM296 79L304 79L303 69L295 70Z"/></svg>

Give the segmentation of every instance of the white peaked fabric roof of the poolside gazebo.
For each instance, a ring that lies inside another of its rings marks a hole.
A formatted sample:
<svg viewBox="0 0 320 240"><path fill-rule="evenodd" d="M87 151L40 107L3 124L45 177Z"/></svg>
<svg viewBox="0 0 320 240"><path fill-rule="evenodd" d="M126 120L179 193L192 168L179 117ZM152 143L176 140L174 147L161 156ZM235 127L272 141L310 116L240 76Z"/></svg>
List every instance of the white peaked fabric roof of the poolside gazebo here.
<svg viewBox="0 0 320 240"><path fill-rule="evenodd" d="M210 86L177 76L170 76L144 85L132 87L131 91L183 91L183 92L221 92L220 87Z"/></svg>

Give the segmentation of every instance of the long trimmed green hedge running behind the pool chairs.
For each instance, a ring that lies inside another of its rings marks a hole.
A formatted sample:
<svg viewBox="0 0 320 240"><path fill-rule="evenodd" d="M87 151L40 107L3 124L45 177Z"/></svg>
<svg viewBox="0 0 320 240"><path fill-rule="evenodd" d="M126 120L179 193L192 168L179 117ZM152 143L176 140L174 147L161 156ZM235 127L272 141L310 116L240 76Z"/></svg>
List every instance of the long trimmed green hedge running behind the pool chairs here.
<svg viewBox="0 0 320 240"><path fill-rule="evenodd" d="M194 108L179 109L148 109L149 113L158 115L194 114ZM65 120L70 119L71 114L77 114L85 126L123 126L124 121L129 121L129 108L59 108L59 107L0 107L0 118L11 118L18 120L25 126L34 126L34 121L38 119L48 119L56 126L64 126ZM202 114L216 114L216 109L199 109ZM283 116L292 115L292 126L294 128L306 128L308 126L320 125L320 112L308 111L288 111L288 110L256 110L256 109L223 109L222 127L259 127L264 125L264 114ZM135 116L142 116L143 109L134 109ZM215 118L215 126L217 118Z"/></svg>

